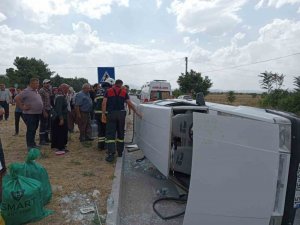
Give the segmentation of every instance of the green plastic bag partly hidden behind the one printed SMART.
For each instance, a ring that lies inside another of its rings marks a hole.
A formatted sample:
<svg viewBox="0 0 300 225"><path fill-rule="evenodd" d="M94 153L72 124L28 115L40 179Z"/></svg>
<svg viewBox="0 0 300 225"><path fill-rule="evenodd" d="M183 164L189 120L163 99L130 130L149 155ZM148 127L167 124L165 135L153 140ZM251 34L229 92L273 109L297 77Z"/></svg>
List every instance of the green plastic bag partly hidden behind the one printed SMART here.
<svg viewBox="0 0 300 225"><path fill-rule="evenodd" d="M41 182L43 204L46 205L51 200L52 190L47 170L42 165L34 161L39 158L40 155L41 152L39 149L30 149L23 168L20 168L17 173L24 177L33 178Z"/></svg>

